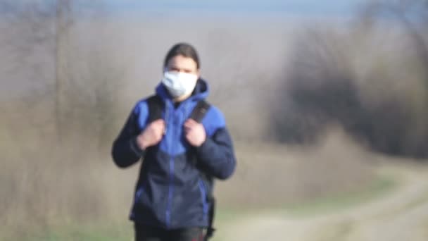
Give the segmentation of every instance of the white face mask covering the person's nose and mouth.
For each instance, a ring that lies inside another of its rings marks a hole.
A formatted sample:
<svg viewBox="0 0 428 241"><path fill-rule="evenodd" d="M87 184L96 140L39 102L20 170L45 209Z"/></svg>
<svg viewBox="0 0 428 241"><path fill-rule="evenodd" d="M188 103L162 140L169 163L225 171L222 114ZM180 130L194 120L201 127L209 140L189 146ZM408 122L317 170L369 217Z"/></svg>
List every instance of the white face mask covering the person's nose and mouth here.
<svg viewBox="0 0 428 241"><path fill-rule="evenodd" d="M198 75L168 71L163 74L162 83L173 98L183 97L193 92Z"/></svg>

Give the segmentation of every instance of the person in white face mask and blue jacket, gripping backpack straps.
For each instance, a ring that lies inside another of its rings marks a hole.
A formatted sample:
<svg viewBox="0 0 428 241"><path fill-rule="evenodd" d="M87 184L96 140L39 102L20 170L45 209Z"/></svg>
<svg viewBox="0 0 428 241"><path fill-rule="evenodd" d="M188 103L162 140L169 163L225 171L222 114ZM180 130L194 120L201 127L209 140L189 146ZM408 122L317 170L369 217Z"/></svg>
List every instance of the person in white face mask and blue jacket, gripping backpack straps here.
<svg viewBox="0 0 428 241"><path fill-rule="evenodd" d="M112 156L120 168L143 160L130 214L135 240L204 240L212 180L229 178L236 167L232 140L217 107L210 105L200 123L190 118L209 90L196 49L175 44L163 67L156 87L162 118L150 122L149 97L138 101Z"/></svg>

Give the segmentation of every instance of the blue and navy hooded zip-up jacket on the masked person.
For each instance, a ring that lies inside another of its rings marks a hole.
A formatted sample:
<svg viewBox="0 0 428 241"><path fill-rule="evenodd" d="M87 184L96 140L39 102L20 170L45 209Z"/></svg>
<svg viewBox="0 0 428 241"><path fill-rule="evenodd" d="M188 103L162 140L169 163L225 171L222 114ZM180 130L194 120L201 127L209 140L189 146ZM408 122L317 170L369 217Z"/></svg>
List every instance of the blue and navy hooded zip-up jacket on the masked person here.
<svg viewBox="0 0 428 241"><path fill-rule="evenodd" d="M160 143L144 150L137 146L137 135L148 124L146 99L137 102L113 143L113 160L121 168L143 159L130 219L167 229L207 227L211 178L227 179L236 166L225 118L211 106L201 121L206 141L201 147L191 147L183 125L198 101L208 96L207 83L199 79L194 93L179 106L163 85L156 87L156 94L165 104L166 133Z"/></svg>

